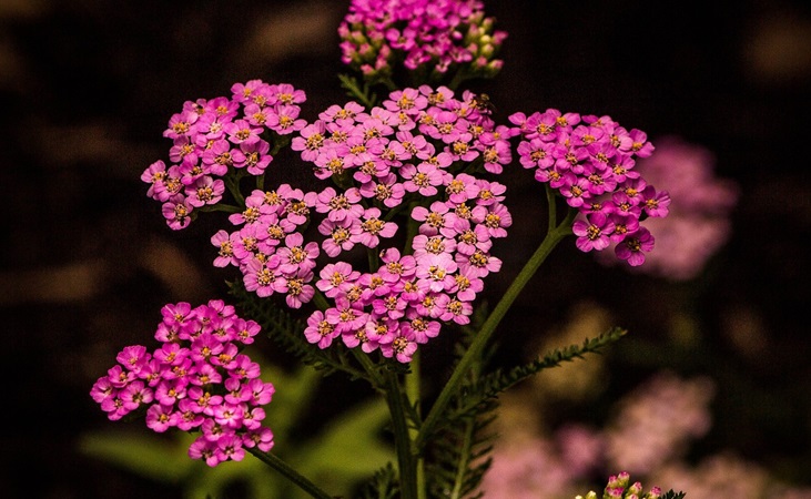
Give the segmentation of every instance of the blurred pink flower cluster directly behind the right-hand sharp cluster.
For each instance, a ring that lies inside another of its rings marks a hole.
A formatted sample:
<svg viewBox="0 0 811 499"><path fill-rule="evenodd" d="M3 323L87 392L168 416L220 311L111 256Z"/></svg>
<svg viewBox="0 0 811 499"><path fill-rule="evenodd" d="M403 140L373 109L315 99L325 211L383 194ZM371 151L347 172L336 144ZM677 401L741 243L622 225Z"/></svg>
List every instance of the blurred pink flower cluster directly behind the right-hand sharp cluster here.
<svg viewBox="0 0 811 499"><path fill-rule="evenodd" d="M647 222L657 234L658 251L639 272L687 281L697 277L707 262L727 243L730 214L738 203L738 186L716 176L714 156L701 145L677 136L657 140L657 152L637 163L646 179L668 186L670 216ZM612 264L602 255L604 264Z"/></svg>

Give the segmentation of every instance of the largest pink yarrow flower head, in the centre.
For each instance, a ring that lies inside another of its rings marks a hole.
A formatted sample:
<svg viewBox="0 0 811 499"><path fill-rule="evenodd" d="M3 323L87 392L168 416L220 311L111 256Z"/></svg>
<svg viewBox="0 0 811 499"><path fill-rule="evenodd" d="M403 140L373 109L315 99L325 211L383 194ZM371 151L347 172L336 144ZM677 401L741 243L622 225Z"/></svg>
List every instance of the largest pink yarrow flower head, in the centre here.
<svg viewBox="0 0 811 499"><path fill-rule="evenodd" d="M395 91L368 111L356 102L330 106L292 149L317 179L347 187L254 191L231 216L241 228L212 238L214 264L237 266L249 291L284 293L293 308L315 288L331 298L334 306L312 313L304 332L321 348L339 336L351 348L407 363L442 323L469 323L483 279L500 269L490 248L511 225L506 187L459 170L500 173L511 160L508 139L473 93L456 99L447 88ZM412 202L405 214L418 231L402 254L383 240L399 228L391 215ZM305 243L302 227L315 216L323 240ZM338 261L315 268L322 251L338 257L355 246L381 247L379 267L361 272Z"/></svg>

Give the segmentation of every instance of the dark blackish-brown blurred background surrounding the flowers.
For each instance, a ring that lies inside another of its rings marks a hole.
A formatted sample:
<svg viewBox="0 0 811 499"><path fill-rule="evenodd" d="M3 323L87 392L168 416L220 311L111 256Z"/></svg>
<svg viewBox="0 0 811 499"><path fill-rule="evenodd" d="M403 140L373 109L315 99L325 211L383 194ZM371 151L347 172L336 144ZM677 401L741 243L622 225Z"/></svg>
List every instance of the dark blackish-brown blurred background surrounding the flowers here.
<svg viewBox="0 0 811 499"><path fill-rule="evenodd" d="M336 28L347 6L0 3L0 307L10 389L0 497L180 496L77 451L80 435L113 425L88 394L120 348L149 344L163 304L225 297L223 281L232 277L211 266L216 222L172 232L141 172L166 157L161 133L185 100L227 95L234 82L304 89L311 120L345 102ZM811 9L797 0L545 0L491 1L486 12L509 32L504 71L477 86L498 118L557 108L609 114L653 141L680 135L712 151L717 174L741 192L731 240L698 279L677 286L630 276L567 241L505 332L541 330L584 297L611 307L632 334L661 347L636 367L639 376L670 363L719 380L704 446L781 464L810 486ZM504 180L518 222L505 269L488 282L493 296L540 238L539 192L529 179ZM699 296L703 335L695 356L678 363L660 338L662 317L678 306L668 302L675 286ZM743 333L730 336L731 323ZM529 338L503 340L508 359ZM618 387L632 386L633 373Z"/></svg>

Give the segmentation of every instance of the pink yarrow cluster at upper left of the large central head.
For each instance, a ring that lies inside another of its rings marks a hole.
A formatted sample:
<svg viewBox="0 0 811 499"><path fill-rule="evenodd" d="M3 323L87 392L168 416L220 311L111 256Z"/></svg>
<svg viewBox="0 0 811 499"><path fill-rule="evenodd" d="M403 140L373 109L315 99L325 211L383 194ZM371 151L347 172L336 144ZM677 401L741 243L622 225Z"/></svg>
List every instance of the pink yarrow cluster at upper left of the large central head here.
<svg viewBox="0 0 811 499"><path fill-rule="evenodd" d="M173 230L189 226L195 210L222 201L226 174L262 175L275 142L306 123L298 118L304 91L290 84L251 80L231 91L230 98L186 101L163 132L173 143L170 164L156 161L141 175Z"/></svg>

